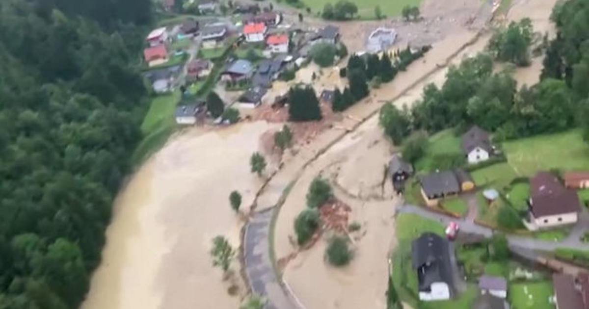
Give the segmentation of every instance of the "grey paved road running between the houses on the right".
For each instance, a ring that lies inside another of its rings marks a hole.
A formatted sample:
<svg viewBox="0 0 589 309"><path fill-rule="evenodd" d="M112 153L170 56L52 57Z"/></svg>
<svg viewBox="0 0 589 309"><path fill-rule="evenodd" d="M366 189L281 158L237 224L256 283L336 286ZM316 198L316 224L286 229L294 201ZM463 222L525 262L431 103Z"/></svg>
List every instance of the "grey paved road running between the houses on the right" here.
<svg viewBox="0 0 589 309"><path fill-rule="evenodd" d="M444 225L448 224L451 221L454 221L458 223L461 231L480 234L484 235L485 237L491 237L493 234L493 230L491 230L490 228L475 224L474 222L469 220L457 219L454 217L438 214L437 212L431 212L421 206L405 204L402 207L398 208L398 213L416 214L423 218L428 218L431 220L442 222L442 224ZM587 225L588 222L589 213L586 210L583 210L580 214L580 220L577 222L577 224L575 224L575 227L573 228L573 232L571 232L571 234L569 234L568 237L562 241L545 241L519 235L506 236L507 240L509 241L509 245L525 248L528 250L554 251L556 248L559 247L570 247L580 250L589 250L589 244L582 242L579 239L579 237L577 237L577 235L581 235L581 233L585 231L585 228L589 226Z"/></svg>

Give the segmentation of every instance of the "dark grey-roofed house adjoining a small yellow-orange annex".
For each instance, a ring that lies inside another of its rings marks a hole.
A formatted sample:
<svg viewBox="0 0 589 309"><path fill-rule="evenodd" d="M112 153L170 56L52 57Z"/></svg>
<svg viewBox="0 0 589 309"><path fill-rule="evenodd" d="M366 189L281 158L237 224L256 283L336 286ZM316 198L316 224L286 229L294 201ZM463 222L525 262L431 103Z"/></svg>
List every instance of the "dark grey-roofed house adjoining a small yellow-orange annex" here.
<svg viewBox="0 0 589 309"><path fill-rule="evenodd" d="M428 206L437 206L441 198L458 194L461 184L453 171L434 172L419 177L421 194Z"/></svg>

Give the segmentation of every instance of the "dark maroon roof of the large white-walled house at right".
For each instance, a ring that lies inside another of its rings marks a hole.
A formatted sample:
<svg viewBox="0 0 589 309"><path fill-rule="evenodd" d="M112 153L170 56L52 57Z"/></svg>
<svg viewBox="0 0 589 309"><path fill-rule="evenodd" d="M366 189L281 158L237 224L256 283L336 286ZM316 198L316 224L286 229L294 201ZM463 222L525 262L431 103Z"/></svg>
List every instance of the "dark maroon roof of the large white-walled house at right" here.
<svg viewBox="0 0 589 309"><path fill-rule="evenodd" d="M530 181L534 217L568 214L580 210L577 192L562 186L551 172L538 172Z"/></svg>

